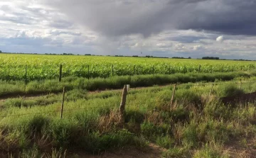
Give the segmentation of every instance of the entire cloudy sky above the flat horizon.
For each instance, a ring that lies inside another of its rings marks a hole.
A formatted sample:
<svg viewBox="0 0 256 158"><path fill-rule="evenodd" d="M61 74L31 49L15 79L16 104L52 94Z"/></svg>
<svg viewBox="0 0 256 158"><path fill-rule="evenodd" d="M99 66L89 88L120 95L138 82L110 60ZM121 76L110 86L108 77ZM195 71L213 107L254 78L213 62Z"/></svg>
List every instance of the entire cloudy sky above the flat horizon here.
<svg viewBox="0 0 256 158"><path fill-rule="evenodd" d="M256 60L256 0L1 0L2 52Z"/></svg>

